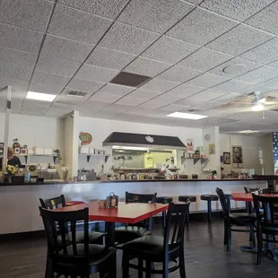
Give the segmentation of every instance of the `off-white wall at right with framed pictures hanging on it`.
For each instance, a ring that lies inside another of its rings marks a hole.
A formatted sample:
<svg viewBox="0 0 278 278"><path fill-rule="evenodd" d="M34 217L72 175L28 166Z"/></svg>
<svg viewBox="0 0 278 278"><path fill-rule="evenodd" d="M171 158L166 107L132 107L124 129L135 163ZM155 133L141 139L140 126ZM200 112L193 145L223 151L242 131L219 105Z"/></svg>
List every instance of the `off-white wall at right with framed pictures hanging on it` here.
<svg viewBox="0 0 278 278"><path fill-rule="evenodd" d="M232 155L231 146L233 145L242 146L243 169L255 169L256 174L262 174L262 168L264 168L265 175L274 174L271 135L220 135L221 155L223 152L230 152ZM263 150L264 165L260 165L260 161L258 159L258 151L260 148ZM232 169L232 164L222 164L222 167L224 168L223 173L225 174L230 173L230 170L240 170Z"/></svg>

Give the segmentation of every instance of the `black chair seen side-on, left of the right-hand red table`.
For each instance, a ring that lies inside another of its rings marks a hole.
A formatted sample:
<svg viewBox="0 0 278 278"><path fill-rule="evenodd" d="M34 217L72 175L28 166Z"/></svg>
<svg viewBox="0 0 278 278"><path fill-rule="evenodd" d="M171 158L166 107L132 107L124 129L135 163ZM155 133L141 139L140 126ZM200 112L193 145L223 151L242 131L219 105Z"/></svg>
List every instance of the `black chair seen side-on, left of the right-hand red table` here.
<svg viewBox="0 0 278 278"><path fill-rule="evenodd" d="M228 200L225 197L222 189L217 187L216 193L217 193L220 203L222 205L222 211L223 211L223 215L224 215L224 245L227 246L227 253L230 253L231 231L251 233L251 239L252 239L253 245L255 246L256 242L255 242L255 231L254 230L255 230L256 215L253 213L251 213L251 214L250 213L230 213ZM236 229L233 227L246 227L246 228L249 228L249 230Z"/></svg>

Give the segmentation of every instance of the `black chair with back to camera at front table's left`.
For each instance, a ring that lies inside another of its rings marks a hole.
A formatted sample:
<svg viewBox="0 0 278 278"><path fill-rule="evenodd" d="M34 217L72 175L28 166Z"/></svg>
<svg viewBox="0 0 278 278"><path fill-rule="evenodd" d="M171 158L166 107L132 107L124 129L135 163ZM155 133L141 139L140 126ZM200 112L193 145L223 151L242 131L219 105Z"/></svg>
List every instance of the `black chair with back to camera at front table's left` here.
<svg viewBox="0 0 278 278"><path fill-rule="evenodd" d="M39 207L48 239L48 274L46 277L81 276L89 278L91 274L100 273L100 278L109 274L109 278L117 277L115 248L89 244L89 209L74 212L55 212ZM76 224L82 221L83 243L77 241ZM72 240L66 240L67 227L71 227ZM58 227L58 229L56 229ZM60 241L62 239L62 241Z"/></svg>

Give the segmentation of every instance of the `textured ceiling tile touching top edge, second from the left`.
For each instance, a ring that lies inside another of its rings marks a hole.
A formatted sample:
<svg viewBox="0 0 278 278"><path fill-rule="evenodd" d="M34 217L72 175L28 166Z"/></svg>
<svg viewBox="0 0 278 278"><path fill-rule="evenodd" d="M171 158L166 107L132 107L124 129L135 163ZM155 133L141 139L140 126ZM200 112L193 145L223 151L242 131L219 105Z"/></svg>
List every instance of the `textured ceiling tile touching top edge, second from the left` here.
<svg viewBox="0 0 278 278"><path fill-rule="evenodd" d="M124 8L128 0L58 0L57 3L65 4L72 8L87 13L98 14L103 17L115 19Z"/></svg>

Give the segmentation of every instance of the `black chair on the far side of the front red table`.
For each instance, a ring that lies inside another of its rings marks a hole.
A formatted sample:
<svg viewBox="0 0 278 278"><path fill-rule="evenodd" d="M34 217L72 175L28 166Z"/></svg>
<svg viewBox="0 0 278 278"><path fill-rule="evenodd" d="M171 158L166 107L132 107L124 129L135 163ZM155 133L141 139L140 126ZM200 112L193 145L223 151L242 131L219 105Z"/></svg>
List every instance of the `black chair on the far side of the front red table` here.
<svg viewBox="0 0 278 278"><path fill-rule="evenodd" d="M155 194L135 194L126 192L126 203L154 203L156 199ZM152 218L135 225L126 224L125 226L117 227L115 229L115 248L121 249L122 244L138 239L146 235L150 235L152 230Z"/></svg>

